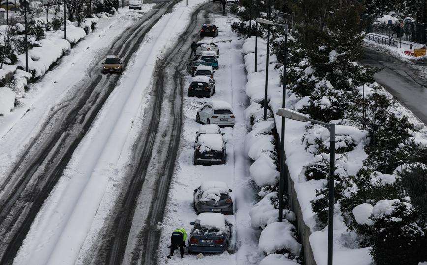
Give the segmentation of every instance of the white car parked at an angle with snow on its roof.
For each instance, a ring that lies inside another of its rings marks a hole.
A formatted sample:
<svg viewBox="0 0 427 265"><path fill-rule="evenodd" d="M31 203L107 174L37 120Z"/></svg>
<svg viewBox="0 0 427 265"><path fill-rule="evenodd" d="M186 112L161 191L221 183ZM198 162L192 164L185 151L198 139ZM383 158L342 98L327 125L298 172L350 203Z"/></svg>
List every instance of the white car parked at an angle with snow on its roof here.
<svg viewBox="0 0 427 265"><path fill-rule="evenodd" d="M209 101L197 110L196 122L217 124L219 126L234 126L233 107L225 101Z"/></svg>

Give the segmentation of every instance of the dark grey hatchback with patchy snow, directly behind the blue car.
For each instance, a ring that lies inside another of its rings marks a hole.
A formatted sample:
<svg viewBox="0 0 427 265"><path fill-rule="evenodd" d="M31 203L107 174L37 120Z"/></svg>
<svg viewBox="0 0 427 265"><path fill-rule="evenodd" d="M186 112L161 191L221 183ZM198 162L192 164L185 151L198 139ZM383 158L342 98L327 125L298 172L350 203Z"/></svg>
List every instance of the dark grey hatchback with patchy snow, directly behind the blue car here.
<svg viewBox="0 0 427 265"><path fill-rule="evenodd" d="M194 190L194 209L197 214L203 212L233 214L230 192L227 183L223 181L205 181Z"/></svg>

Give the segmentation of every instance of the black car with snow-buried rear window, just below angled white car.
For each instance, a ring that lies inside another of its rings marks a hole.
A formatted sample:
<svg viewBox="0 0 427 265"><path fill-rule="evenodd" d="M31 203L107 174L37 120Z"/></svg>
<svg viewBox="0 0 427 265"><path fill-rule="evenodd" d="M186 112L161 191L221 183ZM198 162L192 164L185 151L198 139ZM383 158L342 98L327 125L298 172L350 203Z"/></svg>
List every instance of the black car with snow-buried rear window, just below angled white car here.
<svg viewBox="0 0 427 265"><path fill-rule="evenodd" d="M226 147L221 134L201 134L194 148L194 165L225 164Z"/></svg>

